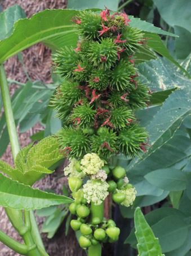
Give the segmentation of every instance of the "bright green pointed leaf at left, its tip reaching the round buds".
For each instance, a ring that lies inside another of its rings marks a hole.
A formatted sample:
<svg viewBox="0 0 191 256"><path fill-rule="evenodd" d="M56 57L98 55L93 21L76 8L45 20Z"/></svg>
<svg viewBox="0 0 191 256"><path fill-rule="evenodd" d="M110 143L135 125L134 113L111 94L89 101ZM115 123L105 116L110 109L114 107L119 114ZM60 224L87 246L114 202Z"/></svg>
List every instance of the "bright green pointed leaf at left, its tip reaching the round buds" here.
<svg viewBox="0 0 191 256"><path fill-rule="evenodd" d="M73 199L33 189L0 173L0 205L11 209L34 210L73 202Z"/></svg>

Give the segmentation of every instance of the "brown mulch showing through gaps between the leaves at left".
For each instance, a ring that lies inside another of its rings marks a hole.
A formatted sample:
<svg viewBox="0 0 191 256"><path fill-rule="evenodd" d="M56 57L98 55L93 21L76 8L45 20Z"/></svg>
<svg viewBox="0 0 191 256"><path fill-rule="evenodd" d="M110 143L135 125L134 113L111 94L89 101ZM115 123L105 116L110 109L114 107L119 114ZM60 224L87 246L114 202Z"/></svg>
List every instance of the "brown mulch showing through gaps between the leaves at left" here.
<svg viewBox="0 0 191 256"><path fill-rule="evenodd" d="M0 0L1 1L1 0ZM48 0L48 1L39 1L39 0L3 0L1 1L3 6L3 10L12 6L12 5L20 5L24 11L26 12L26 16L30 18L33 14L38 11L43 11L46 8L65 8L66 0ZM28 49L23 51L23 60L25 63L26 71L28 72L30 79L41 80L44 83L51 83L50 77L50 66L51 66L51 51L45 45L39 43L37 45L31 46ZM7 77L9 79L13 79L19 81L21 83L25 83L27 77L23 70L22 64L19 62L16 56L8 59L5 63L5 70ZM11 95L15 92L17 86L10 86ZM19 128L17 127L19 130ZM38 132L43 127L40 124L36 124L33 128L25 133L19 133L19 141L20 146L24 147L28 145L31 140L29 138L30 135ZM5 160L7 163L14 166L11 154L11 147L8 145L6 153L1 158ZM55 181L55 177L61 175L63 173L63 168L57 170L53 175L47 175L42 180L38 181L35 184L35 188L39 188L41 190L45 189L54 189L57 194L61 194L62 184L64 182L64 178ZM12 228L11 223L9 222L3 207L0 207L0 229L7 233L7 235L11 236L17 241L21 241L20 237L16 233L15 229ZM37 222L39 228L41 229L43 218L37 217ZM83 256L86 255L85 252L79 248L78 242L74 237L74 232L69 231L68 236L65 236L65 223L59 229L55 237L48 239L46 233L42 233L42 239L45 244L45 248L47 253L50 256ZM0 256L16 256L19 255L7 248L0 242Z"/></svg>

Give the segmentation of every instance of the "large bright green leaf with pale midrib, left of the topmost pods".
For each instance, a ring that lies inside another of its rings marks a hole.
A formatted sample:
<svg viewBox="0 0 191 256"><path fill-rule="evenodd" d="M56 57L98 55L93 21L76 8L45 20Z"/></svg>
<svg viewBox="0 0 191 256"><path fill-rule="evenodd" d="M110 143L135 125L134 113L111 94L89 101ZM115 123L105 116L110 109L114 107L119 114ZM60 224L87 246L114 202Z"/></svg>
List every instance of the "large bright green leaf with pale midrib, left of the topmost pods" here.
<svg viewBox="0 0 191 256"><path fill-rule="evenodd" d="M70 20L78 13L76 10L45 10L30 19L18 20L11 36L0 42L0 62L40 41L54 49L75 46L77 35Z"/></svg>

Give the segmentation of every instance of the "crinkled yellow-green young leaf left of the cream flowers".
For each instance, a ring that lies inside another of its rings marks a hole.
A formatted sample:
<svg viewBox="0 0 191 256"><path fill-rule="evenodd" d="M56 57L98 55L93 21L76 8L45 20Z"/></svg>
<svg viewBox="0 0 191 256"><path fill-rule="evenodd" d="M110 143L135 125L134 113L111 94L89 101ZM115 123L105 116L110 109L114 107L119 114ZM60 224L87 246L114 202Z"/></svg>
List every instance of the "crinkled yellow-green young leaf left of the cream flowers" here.
<svg viewBox="0 0 191 256"><path fill-rule="evenodd" d="M1 161L0 170L25 185L33 185L45 173L52 173L48 168L63 158L56 138L48 136L32 145L24 147L16 155L15 169Z"/></svg>

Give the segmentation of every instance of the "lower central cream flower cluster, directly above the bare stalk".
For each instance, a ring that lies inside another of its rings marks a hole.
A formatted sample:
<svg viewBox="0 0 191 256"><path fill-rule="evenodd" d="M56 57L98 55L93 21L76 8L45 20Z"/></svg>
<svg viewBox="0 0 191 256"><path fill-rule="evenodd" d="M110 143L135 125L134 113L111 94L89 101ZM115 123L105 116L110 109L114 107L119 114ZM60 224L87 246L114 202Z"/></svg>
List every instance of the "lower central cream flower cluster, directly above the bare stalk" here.
<svg viewBox="0 0 191 256"><path fill-rule="evenodd" d="M101 205L104 199L108 196L109 185L104 182L88 180L85 185L83 185L84 197L87 202L94 202L95 205Z"/></svg>

